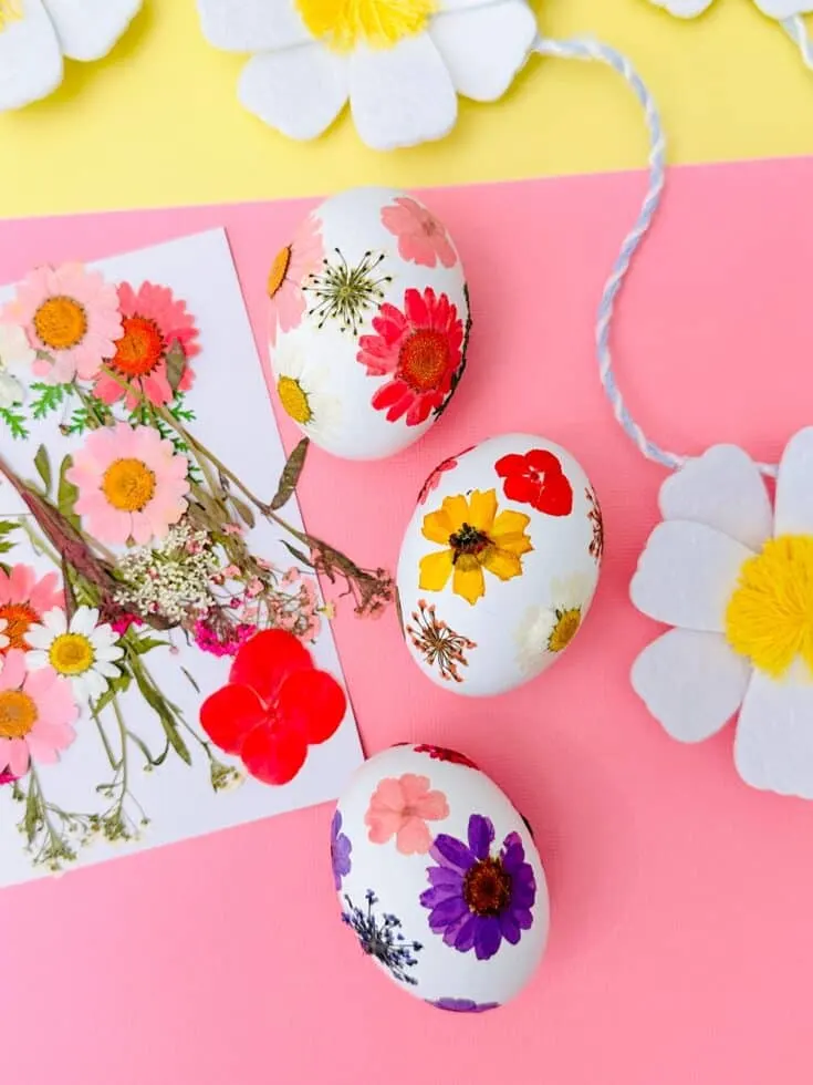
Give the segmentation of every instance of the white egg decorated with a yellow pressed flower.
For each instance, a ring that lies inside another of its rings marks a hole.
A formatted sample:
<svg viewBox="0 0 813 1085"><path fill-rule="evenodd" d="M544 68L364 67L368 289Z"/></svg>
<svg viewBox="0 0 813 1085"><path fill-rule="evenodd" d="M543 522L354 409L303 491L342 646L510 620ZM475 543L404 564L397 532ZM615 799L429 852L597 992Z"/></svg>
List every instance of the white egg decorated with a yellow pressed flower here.
<svg viewBox="0 0 813 1085"><path fill-rule="evenodd" d="M522 685L579 632L603 546L595 490L559 445L514 433L447 459L426 480L400 550L409 652L456 693Z"/></svg>

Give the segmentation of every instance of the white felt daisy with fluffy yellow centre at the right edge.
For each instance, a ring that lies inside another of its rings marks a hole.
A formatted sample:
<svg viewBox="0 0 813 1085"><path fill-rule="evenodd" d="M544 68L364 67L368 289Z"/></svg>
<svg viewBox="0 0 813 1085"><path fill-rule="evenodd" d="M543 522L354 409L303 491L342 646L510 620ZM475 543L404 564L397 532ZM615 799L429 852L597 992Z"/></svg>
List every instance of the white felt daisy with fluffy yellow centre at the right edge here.
<svg viewBox="0 0 813 1085"><path fill-rule="evenodd" d="M791 440L773 509L757 465L720 445L664 484L664 521L632 582L673 630L633 686L682 742L739 710L734 762L753 787L813 798L813 428Z"/></svg>

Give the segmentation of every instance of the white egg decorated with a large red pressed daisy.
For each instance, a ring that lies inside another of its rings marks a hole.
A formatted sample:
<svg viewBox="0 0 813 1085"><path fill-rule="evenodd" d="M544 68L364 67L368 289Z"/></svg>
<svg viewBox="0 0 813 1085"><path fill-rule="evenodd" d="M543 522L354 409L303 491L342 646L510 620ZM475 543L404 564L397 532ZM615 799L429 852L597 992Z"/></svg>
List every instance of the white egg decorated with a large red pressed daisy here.
<svg viewBox="0 0 813 1085"><path fill-rule="evenodd" d="M417 441L466 368L469 302L446 227L415 196L353 188L300 224L268 278L277 394L314 444L378 459Z"/></svg>

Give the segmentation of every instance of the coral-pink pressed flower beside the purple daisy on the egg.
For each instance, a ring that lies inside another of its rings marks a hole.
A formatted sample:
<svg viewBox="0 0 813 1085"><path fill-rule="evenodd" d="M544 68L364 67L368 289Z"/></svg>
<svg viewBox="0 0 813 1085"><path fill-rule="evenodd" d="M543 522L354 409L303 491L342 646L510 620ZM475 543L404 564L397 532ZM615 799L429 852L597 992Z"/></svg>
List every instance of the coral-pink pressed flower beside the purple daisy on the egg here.
<svg viewBox="0 0 813 1085"><path fill-rule="evenodd" d="M432 844L427 822L449 816L449 804L442 792L429 789L428 776L406 773L399 779L383 779L369 800L364 824L373 844L386 844L395 837L402 855L426 855Z"/></svg>

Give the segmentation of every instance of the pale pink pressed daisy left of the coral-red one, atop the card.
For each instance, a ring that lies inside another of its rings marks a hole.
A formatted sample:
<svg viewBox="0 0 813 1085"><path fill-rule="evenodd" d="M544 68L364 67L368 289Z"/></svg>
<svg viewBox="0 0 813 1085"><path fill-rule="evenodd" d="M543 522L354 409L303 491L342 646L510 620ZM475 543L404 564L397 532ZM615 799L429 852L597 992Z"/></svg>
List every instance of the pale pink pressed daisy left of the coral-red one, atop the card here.
<svg viewBox="0 0 813 1085"><path fill-rule="evenodd" d="M81 264L35 268L0 322L24 328L31 347L49 355L39 358L33 371L52 384L93 380L122 334L115 286Z"/></svg>

